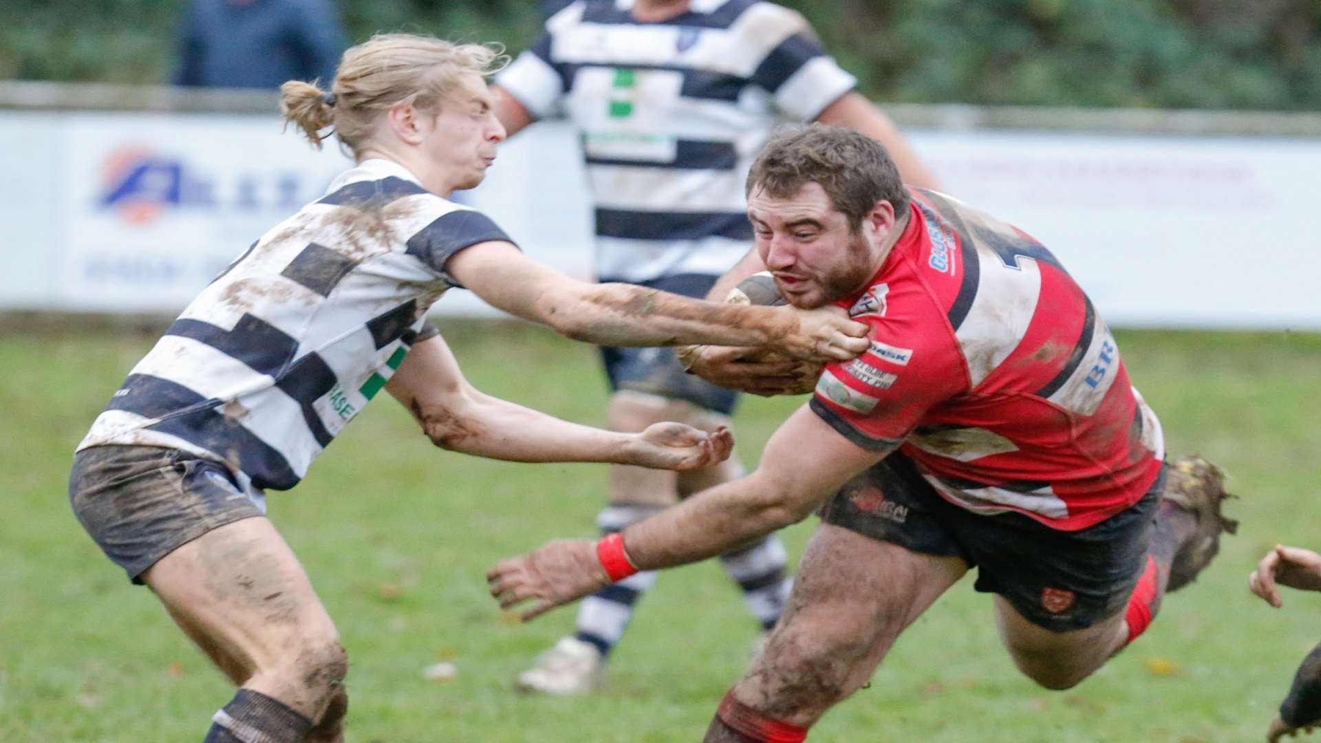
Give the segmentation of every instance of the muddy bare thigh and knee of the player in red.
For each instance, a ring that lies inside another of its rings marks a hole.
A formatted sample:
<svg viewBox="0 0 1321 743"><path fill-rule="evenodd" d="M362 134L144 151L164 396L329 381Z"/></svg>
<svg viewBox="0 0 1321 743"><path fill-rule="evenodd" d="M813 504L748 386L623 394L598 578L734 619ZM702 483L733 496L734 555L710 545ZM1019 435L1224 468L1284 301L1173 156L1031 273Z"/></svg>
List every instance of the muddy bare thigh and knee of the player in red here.
<svg viewBox="0 0 1321 743"><path fill-rule="evenodd" d="M966 571L960 558L822 524L783 619L734 697L775 719L812 724L865 684L900 632Z"/></svg>

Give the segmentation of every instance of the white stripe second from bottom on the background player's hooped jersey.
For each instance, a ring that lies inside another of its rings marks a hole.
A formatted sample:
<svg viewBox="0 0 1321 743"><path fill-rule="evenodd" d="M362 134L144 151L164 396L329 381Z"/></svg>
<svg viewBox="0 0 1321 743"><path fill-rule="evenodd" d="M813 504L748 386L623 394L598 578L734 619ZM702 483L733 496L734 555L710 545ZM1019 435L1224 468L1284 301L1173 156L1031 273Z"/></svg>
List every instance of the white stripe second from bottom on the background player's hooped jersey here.
<svg viewBox="0 0 1321 743"><path fill-rule="evenodd" d="M592 165L596 205L633 212L738 212L744 202L740 171L674 171Z"/></svg>

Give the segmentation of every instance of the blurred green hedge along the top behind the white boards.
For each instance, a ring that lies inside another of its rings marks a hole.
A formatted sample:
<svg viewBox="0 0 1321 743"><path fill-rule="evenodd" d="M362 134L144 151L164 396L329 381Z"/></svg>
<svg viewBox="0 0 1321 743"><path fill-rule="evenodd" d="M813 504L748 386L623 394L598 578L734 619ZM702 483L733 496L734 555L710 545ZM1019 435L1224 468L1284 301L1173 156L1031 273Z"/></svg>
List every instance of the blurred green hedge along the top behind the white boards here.
<svg viewBox="0 0 1321 743"><path fill-rule="evenodd" d="M1321 0L783 0L881 100L1321 110ZM353 40L536 33L535 0L337 0ZM0 3L0 78L166 82L185 0Z"/></svg>

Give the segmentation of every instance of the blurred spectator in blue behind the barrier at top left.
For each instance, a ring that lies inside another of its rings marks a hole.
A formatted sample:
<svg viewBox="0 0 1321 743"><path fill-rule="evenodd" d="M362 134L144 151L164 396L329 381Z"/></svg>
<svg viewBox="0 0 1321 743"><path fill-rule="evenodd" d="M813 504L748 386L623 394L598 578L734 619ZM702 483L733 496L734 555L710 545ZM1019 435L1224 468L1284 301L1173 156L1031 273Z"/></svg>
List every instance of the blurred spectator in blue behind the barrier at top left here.
<svg viewBox="0 0 1321 743"><path fill-rule="evenodd" d="M176 85L262 87L334 79L345 49L330 0L193 0Z"/></svg>

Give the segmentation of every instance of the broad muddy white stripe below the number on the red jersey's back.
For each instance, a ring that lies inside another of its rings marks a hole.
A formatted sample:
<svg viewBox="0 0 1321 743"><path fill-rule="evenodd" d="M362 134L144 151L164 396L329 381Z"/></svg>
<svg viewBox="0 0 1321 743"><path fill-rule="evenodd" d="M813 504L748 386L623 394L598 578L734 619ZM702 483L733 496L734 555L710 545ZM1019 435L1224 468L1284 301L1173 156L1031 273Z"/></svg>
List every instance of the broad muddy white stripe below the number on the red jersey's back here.
<svg viewBox="0 0 1321 743"><path fill-rule="evenodd" d="M1041 267L1036 260L1022 259L1021 268L1011 268L984 249L978 250L978 293L955 332L974 387L1022 341L1041 295Z"/></svg>

